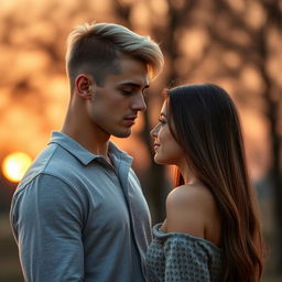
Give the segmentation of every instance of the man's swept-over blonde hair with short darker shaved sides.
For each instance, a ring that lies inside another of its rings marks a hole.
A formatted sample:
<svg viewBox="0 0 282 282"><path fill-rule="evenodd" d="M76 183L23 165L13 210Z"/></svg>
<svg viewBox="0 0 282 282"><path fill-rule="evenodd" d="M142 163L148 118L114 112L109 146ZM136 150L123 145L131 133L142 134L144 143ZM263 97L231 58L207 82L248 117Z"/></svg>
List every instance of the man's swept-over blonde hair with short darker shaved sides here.
<svg viewBox="0 0 282 282"><path fill-rule="evenodd" d="M102 84L108 74L119 72L117 59L122 55L143 62L152 78L163 66L163 54L149 36L115 23L76 26L67 39L66 70L70 86L82 72L89 72L97 84Z"/></svg>

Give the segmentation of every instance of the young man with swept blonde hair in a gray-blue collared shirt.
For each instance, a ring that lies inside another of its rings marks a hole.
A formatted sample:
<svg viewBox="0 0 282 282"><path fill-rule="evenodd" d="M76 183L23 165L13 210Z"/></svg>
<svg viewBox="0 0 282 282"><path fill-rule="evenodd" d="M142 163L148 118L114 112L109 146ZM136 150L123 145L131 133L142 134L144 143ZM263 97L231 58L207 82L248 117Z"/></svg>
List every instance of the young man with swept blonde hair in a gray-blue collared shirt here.
<svg viewBox="0 0 282 282"><path fill-rule="evenodd" d="M68 37L70 100L12 200L11 225L25 281L143 282L150 214L127 138L145 110L158 44L118 24L77 26Z"/></svg>

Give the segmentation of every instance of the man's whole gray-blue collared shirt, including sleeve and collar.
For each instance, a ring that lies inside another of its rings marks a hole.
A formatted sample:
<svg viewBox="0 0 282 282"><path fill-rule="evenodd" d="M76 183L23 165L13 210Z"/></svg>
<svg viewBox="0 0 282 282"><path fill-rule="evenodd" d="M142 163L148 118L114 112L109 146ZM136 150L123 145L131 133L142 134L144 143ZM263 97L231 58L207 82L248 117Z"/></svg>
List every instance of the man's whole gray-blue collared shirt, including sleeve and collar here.
<svg viewBox="0 0 282 282"><path fill-rule="evenodd" d="M53 132L19 184L11 225L26 281L143 282L150 214L132 158Z"/></svg>

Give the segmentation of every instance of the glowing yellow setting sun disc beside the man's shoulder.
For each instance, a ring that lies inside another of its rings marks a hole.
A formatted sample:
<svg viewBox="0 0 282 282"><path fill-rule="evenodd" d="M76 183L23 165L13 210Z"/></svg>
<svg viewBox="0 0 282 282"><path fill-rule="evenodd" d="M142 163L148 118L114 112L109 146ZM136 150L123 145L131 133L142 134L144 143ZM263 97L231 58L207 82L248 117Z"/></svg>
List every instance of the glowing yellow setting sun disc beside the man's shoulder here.
<svg viewBox="0 0 282 282"><path fill-rule="evenodd" d="M31 162L31 158L25 153L11 153L2 162L2 173L9 181L20 182Z"/></svg>

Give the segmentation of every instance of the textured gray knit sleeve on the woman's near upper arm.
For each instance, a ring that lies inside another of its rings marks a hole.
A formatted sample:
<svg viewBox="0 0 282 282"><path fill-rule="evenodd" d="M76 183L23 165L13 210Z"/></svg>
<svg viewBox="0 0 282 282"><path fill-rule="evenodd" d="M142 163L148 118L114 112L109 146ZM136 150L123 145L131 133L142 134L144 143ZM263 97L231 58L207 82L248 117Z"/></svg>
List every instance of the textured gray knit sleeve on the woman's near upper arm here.
<svg viewBox="0 0 282 282"><path fill-rule="evenodd" d="M172 237L164 242L165 282L208 282L208 257L195 241Z"/></svg>

